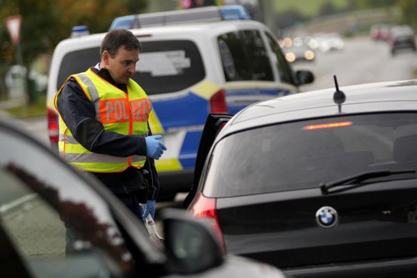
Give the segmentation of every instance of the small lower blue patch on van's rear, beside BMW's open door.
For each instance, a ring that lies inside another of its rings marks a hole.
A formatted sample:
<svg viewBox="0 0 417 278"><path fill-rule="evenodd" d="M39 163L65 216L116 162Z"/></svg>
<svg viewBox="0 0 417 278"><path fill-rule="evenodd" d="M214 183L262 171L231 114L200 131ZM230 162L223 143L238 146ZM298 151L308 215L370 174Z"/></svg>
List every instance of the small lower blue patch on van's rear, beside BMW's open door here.
<svg viewBox="0 0 417 278"><path fill-rule="evenodd" d="M199 141L203 131L188 131L179 152L179 162L184 168L194 167Z"/></svg>

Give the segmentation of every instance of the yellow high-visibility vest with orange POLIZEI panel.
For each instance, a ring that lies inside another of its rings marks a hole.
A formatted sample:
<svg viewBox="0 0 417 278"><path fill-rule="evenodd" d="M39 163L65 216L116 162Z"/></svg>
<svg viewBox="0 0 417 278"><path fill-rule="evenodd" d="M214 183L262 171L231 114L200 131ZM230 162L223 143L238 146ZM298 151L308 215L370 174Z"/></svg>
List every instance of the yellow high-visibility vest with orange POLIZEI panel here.
<svg viewBox="0 0 417 278"><path fill-rule="evenodd" d="M68 79L71 77L81 85L85 95L94 105L96 120L104 125L105 131L147 136L147 121L152 104L138 83L129 79L126 93L91 69L69 76ZM63 87L55 96L56 107L58 95L62 90ZM143 167L146 161L145 156L117 157L90 152L75 140L61 116L59 116L58 149L65 161L88 172L122 172L129 166Z"/></svg>

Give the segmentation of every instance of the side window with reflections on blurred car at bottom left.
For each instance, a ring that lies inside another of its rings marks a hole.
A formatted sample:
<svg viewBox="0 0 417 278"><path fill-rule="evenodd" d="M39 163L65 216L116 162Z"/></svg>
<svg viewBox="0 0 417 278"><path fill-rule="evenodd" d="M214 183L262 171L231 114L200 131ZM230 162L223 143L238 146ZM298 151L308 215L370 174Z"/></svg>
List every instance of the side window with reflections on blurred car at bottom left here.
<svg viewBox="0 0 417 278"><path fill-rule="evenodd" d="M133 270L108 205L79 175L1 127L0 143L0 226L33 277L110 277L113 270Z"/></svg>

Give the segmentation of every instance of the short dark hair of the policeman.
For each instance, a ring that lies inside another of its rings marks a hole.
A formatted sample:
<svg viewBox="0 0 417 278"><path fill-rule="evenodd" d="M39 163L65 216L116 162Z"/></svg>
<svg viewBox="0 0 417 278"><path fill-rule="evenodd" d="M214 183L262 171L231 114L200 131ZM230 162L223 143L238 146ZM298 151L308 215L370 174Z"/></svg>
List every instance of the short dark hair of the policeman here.
<svg viewBox="0 0 417 278"><path fill-rule="evenodd" d="M108 32L101 42L100 56L103 55L104 51L108 51L108 54L113 58L116 55L117 49L122 46L127 50L142 50L142 45L138 38L136 38L131 31L126 29L115 29Z"/></svg>

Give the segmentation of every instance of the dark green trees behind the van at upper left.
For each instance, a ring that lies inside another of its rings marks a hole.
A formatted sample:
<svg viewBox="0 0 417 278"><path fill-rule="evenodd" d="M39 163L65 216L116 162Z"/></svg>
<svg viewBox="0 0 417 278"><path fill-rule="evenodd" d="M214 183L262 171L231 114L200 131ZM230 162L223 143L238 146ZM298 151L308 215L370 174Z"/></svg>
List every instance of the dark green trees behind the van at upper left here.
<svg viewBox="0 0 417 278"><path fill-rule="evenodd" d="M91 33L102 33L115 17L145 8L146 0L0 0L0 90L4 92L2 81L8 67L16 63L15 47L4 25L6 17L22 16L20 47L29 73L40 54L51 54L58 42L70 37L72 26L87 25ZM29 99L33 100L31 95Z"/></svg>

